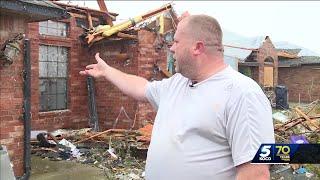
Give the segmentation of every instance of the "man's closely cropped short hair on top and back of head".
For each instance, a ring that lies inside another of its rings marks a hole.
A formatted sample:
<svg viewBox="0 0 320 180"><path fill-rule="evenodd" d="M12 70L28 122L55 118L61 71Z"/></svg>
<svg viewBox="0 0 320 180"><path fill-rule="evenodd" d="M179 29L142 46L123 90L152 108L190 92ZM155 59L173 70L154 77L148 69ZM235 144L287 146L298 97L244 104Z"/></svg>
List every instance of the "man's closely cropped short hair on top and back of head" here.
<svg viewBox="0 0 320 180"><path fill-rule="evenodd" d="M223 51L222 30L218 21L208 15L191 15L188 17L188 30L195 41L204 41L207 47Z"/></svg>

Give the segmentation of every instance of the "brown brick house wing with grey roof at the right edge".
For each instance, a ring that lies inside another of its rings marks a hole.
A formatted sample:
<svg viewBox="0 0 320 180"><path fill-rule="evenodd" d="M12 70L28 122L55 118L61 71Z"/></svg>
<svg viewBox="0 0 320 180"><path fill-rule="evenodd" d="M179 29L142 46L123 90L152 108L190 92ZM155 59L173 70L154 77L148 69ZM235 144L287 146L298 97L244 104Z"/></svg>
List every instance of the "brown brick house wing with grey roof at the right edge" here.
<svg viewBox="0 0 320 180"><path fill-rule="evenodd" d="M289 101L312 102L320 99L320 57L297 56L301 49L293 51L289 52L296 57L279 56L279 84L287 86Z"/></svg>

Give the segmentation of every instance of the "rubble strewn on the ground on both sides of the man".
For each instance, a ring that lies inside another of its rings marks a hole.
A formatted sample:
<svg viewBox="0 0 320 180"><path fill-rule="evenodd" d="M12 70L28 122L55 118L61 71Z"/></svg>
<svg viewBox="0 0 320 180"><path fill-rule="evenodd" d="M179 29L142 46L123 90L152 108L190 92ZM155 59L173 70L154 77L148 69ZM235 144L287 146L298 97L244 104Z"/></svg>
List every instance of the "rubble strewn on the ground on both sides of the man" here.
<svg viewBox="0 0 320 180"><path fill-rule="evenodd" d="M273 114L276 143L320 143L319 101L291 107ZM152 128L152 124L147 124L138 130L94 132L86 128L39 133L41 138L33 142L32 153L53 161L74 161L100 168L106 179L143 179ZM51 145L44 146L43 142ZM319 177L317 169L317 165L309 164L273 165L271 179L316 179Z"/></svg>

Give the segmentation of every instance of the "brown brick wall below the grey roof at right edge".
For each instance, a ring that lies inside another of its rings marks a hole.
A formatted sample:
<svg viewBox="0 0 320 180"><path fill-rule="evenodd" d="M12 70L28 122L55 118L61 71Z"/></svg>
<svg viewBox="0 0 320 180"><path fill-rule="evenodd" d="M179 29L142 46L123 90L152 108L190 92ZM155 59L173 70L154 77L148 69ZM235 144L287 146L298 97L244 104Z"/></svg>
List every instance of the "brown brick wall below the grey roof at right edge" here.
<svg viewBox="0 0 320 180"><path fill-rule="evenodd" d="M288 88L290 102L299 102L299 94L300 102L320 99L320 66L279 68L279 84Z"/></svg>

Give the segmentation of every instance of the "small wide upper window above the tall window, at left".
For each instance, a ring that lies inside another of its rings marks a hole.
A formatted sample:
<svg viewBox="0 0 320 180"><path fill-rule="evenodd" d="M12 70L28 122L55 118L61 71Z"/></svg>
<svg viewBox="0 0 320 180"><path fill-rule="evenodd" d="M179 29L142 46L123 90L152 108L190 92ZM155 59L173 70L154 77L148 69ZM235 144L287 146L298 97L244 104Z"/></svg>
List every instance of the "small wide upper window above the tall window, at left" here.
<svg viewBox="0 0 320 180"><path fill-rule="evenodd" d="M56 21L42 21L39 22L39 33L50 36L67 37L67 23Z"/></svg>

